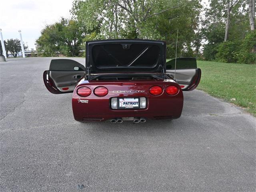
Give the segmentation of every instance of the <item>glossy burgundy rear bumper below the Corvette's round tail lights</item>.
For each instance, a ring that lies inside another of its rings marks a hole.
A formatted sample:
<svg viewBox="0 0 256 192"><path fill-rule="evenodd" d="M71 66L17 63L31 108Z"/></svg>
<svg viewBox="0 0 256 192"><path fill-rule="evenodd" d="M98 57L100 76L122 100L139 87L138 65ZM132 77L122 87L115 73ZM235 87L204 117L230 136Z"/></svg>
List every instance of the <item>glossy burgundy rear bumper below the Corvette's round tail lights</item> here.
<svg viewBox="0 0 256 192"><path fill-rule="evenodd" d="M131 97L130 95L120 95L120 97ZM175 119L179 118L183 108L182 91L176 96L152 96L147 98L146 109L130 110L113 110L110 107L112 97L104 98L81 98L73 94L72 108L74 118L80 122L87 121L104 121L113 118L124 117L144 117L150 119ZM84 100L81 102L81 100ZM87 101L86 101L87 100Z"/></svg>

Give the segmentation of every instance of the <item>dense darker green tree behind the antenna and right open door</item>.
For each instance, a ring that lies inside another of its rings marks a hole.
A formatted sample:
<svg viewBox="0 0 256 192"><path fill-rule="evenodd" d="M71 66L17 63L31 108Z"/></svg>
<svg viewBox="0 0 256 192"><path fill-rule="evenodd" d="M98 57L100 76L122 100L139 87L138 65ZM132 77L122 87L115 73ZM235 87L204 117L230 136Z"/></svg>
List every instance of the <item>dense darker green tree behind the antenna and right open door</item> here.
<svg viewBox="0 0 256 192"><path fill-rule="evenodd" d="M184 4L186 6L180 6L148 18L142 29L142 34L146 38L166 41L168 58L175 57L177 30L179 30L177 55L180 57L196 56L194 50L201 41L199 15L202 6L197 0L187 1Z"/></svg>

